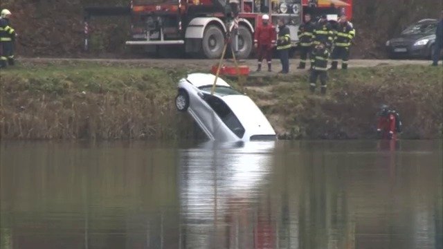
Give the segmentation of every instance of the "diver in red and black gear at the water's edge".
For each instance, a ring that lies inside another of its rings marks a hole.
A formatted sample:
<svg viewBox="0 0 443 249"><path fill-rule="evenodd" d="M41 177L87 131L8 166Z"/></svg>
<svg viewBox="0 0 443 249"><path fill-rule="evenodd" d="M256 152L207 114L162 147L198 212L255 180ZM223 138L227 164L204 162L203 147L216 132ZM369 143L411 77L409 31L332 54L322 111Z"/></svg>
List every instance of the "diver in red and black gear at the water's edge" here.
<svg viewBox="0 0 443 249"><path fill-rule="evenodd" d="M377 134L382 139L397 139L397 133L401 132L401 120L397 111L390 110L386 104L379 111L379 123Z"/></svg>

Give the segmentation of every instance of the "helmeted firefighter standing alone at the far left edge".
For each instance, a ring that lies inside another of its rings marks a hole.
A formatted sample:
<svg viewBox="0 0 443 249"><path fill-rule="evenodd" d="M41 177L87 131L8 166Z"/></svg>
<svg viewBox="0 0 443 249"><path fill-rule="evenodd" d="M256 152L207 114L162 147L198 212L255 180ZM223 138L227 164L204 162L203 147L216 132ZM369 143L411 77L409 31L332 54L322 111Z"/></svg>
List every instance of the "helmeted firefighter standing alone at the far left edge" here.
<svg viewBox="0 0 443 249"><path fill-rule="evenodd" d="M10 26L9 18L11 12L9 10L3 9L0 12L0 44L1 44L1 57L0 57L0 67L6 67L7 62L11 66L14 65L14 40L15 30Z"/></svg>

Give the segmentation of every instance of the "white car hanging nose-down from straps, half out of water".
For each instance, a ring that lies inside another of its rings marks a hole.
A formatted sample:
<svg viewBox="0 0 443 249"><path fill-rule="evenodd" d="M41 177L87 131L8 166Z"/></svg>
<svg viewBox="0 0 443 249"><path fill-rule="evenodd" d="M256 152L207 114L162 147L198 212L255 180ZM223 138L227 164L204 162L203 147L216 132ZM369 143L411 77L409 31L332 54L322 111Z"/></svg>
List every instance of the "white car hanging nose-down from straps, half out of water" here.
<svg viewBox="0 0 443 249"><path fill-rule="evenodd" d="M275 131L248 96L221 78L210 94L215 75L192 73L179 81L175 105L188 111L210 140L224 142L275 140Z"/></svg>

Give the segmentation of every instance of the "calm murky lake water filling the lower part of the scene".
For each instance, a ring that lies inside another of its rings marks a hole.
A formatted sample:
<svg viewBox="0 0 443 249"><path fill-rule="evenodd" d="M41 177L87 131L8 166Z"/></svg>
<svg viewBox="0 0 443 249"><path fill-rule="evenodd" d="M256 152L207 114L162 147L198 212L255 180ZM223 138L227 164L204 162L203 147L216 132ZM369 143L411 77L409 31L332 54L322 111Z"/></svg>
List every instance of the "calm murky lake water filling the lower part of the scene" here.
<svg viewBox="0 0 443 249"><path fill-rule="evenodd" d="M442 142L1 142L1 248L442 248Z"/></svg>

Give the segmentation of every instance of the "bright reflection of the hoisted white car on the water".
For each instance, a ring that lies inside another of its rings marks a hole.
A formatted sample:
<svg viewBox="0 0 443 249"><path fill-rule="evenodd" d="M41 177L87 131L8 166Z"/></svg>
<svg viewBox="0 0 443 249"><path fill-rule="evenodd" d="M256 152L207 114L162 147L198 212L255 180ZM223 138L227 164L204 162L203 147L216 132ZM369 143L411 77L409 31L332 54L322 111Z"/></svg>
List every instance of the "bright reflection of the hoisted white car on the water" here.
<svg viewBox="0 0 443 249"><path fill-rule="evenodd" d="M185 248L254 247L254 223L262 220L258 203L268 184L274 143L208 142L181 151Z"/></svg>

